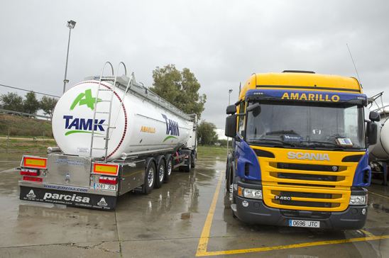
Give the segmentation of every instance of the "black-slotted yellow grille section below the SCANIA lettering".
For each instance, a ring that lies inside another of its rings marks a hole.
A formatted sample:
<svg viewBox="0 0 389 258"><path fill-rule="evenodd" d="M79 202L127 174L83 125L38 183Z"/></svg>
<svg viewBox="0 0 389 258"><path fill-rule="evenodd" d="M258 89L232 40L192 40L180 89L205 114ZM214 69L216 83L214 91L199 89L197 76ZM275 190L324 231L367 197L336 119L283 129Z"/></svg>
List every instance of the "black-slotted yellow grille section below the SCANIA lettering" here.
<svg viewBox="0 0 389 258"><path fill-rule="evenodd" d="M263 193L265 203L270 207L344 211L348 206L349 191L336 189L350 179L347 167L284 162L268 162L266 167L267 175L276 182L274 186L264 186L268 189Z"/></svg>

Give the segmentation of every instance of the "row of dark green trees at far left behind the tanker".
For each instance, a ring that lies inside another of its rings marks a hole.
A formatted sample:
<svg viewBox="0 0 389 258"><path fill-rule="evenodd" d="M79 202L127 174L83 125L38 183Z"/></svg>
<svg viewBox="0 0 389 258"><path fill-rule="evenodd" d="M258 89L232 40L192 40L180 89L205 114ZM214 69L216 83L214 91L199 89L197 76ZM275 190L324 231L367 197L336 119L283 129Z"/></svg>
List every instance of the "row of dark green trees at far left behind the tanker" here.
<svg viewBox="0 0 389 258"><path fill-rule="evenodd" d="M36 114L39 110L45 113L45 116L53 116L53 110L57 99L43 96L42 99L36 99L35 92L28 92L24 98L16 93L8 92L0 96L0 108L9 111L18 111L23 113Z"/></svg>

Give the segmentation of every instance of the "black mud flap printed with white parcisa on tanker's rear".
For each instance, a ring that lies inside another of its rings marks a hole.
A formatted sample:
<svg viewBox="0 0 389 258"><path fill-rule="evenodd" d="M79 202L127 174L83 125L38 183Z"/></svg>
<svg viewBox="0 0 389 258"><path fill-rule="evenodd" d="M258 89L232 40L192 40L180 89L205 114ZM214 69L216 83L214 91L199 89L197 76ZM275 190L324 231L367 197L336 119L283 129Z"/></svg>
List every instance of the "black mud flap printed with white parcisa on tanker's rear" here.
<svg viewBox="0 0 389 258"><path fill-rule="evenodd" d="M116 196L56 191L28 186L21 186L20 199L23 201L56 203L67 206L75 206L77 208L93 208L104 211L110 211L116 208Z"/></svg>

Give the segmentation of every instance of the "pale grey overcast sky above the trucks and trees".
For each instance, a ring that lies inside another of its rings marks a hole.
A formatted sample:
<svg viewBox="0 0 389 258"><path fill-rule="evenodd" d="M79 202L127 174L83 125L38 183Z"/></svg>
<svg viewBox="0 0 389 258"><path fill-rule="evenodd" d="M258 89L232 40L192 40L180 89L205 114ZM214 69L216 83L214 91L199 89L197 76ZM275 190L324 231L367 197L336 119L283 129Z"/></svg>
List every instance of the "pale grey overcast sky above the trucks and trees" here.
<svg viewBox="0 0 389 258"><path fill-rule="evenodd" d="M356 76L346 43L365 93L389 102L389 1L3 0L0 84L61 95L70 19L70 85L106 60L148 86L157 66L187 67L207 94L202 118L218 128L228 89L236 101L253 72Z"/></svg>

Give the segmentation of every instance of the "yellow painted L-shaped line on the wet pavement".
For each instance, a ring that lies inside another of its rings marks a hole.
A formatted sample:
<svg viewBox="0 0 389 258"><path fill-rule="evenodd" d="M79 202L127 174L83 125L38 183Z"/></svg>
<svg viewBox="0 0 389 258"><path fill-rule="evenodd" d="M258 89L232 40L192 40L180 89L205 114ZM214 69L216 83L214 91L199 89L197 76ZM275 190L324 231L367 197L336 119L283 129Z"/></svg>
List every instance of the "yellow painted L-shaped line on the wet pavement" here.
<svg viewBox="0 0 389 258"><path fill-rule="evenodd" d="M257 247L257 248L248 248L248 249L232 249L232 250L221 250L221 251L207 251L208 242L210 238L210 232L212 227L212 220L214 218L214 213L217 205L217 199L219 197L219 191L221 186L221 181L223 179L223 174L220 174L219 181L217 183L217 188L214 193L214 198L212 198L211 207L209 207L209 211L207 214L207 218L205 219L204 227L202 228L202 234L199 238L199 245L197 246L197 257L205 257L205 256L214 256L214 255L226 255L226 254L246 254L251 252L266 252L280 249L292 249L292 248L301 248L301 247L315 247L319 245L337 245L337 244L346 244L351 242L363 242L363 241L373 241L373 240L383 240L389 239L389 235L380 235L375 236L366 230L361 230L367 237L355 237L349 239L341 239L341 240L327 240L327 241L317 241L317 242L304 242L300 244L293 245L277 245L273 247ZM386 196L384 196L387 198Z"/></svg>

